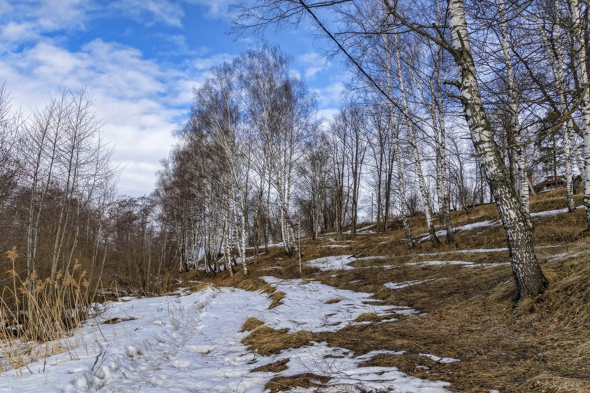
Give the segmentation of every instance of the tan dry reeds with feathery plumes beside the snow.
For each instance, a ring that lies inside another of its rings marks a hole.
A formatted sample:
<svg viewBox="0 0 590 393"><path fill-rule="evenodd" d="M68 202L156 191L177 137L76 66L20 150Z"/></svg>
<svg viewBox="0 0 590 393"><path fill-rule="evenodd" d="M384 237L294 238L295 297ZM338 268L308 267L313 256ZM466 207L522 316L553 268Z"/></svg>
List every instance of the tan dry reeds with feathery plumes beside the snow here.
<svg viewBox="0 0 590 393"><path fill-rule="evenodd" d="M11 285L0 296L0 371L19 369L33 361L85 345L77 329L90 308L86 271L77 260L71 272L54 280L33 272L22 278L15 271L16 249L6 253Z"/></svg>

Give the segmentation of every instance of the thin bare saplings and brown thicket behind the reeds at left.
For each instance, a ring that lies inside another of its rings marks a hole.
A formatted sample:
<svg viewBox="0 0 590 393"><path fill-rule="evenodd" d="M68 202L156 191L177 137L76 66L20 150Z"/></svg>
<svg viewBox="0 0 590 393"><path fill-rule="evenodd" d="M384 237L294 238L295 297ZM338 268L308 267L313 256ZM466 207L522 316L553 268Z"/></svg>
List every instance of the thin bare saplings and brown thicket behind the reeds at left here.
<svg viewBox="0 0 590 393"><path fill-rule="evenodd" d="M25 117L0 89L1 248L15 247L12 274L28 289L47 280L53 290L81 269L89 298L113 280L153 292L171 257L154 246L165 237L158 204L117 196L119 170L92 106L86 90L65 89ZM13 278L0 280L4 288Z"/></svg>

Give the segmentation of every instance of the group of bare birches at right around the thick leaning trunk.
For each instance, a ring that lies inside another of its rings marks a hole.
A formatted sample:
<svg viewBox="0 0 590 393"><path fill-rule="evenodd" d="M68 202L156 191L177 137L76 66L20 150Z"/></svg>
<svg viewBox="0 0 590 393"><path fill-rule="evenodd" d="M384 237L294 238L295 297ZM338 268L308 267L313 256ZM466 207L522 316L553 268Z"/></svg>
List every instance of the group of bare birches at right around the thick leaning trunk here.
<svg viewBox="0 0 590 393"><path fill-rule="evenodd" d="M535 149L542 153L547 149L540 147L552 145L553 157L544 160L554 168L555 148L563 151L570 211L572 166L582 174L590 227L589 12L578 0L261 0L241 8L235 28L306 22L332 40L356 72L353 88L388 110L390 124L401 130L390 130L394 138L405 135L435 244L419 145L430 136L438 211L451 240L448 128L464 128L499 210L523 299L548 283L530 236L527 171ZM405 174L397 169L398 177ZM406 184L400 179L398 188Z"/></svg>

